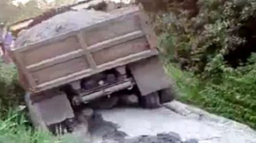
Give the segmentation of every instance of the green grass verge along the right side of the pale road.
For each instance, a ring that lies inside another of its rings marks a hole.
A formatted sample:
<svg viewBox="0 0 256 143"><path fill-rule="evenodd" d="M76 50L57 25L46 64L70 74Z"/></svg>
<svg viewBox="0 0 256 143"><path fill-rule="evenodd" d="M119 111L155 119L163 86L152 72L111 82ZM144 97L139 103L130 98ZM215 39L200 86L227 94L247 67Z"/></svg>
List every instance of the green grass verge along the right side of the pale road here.
<svg viewBox="0 0 256 143"><path fill-rule="evenodd" d="M178 100L256 129L255 68L236 74L224 73L219 84L202 81L172 64L166 65L165 69L176 83Z"/></svg>

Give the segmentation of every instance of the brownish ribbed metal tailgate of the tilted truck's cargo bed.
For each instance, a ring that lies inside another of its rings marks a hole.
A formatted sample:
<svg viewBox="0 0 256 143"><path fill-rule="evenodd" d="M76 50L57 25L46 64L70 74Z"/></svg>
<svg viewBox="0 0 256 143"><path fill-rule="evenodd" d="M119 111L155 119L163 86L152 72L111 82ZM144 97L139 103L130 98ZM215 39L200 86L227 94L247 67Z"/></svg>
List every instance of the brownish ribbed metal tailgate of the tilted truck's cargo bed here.
<svg viewBox="0 0 256 143"><path fill-rule="evenodd" d="M147 17L134 7L120 10L104 22L10 52L30 92L58 87L158 54Z"/></svg>

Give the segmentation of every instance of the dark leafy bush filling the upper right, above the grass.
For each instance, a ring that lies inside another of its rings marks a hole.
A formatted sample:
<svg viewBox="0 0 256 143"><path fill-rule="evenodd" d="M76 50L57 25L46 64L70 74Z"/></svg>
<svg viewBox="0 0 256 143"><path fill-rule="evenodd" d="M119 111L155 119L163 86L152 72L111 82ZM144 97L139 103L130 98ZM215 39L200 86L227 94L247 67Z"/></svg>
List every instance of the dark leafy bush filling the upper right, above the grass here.
<svg viewBox="0 0 256 143"><path fill-rule="evenodd" d="M180 1L186 2L189 1ZM206 73L205 68L219 54L236 68L256 51L255 0L200 0L189 7L189 11L175 7L180 3L169 6L170 14L157 13L155 28L160 34L169 34L166 35L169 40L168 48L164 49L166 54L175 48L176 59L187 62L185 66L190 71ZM193 8L198 13L190 14ZM178 14L174 14L177 11Z"/></svg>

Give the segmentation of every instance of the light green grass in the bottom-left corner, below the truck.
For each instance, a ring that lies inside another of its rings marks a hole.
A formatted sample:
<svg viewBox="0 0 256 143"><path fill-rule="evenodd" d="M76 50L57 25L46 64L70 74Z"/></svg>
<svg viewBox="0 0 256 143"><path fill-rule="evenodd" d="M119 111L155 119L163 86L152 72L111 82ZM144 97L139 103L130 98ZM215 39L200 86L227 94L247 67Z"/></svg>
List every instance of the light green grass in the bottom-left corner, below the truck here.
<svg viewBox="0 0 256 143"><path fill-rule="evenodd" d="M81 143L84 142L73 135L53 136L49 132L35 130L26 115L11 110L0 119L0 143Z"/></svg>

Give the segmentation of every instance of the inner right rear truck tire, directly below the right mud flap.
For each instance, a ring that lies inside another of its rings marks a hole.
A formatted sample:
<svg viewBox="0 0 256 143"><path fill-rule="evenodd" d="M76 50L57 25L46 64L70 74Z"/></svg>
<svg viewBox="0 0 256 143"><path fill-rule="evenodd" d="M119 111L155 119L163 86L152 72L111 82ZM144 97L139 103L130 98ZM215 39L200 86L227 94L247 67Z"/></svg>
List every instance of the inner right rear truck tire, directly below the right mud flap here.
<svg viewBox="0 0 256 143"><path fill-rule="evenodd" d="M141 96L139 104L146 109L154 109L160 107L160 99L157 92L150 93L146 96Z"/></svg>

